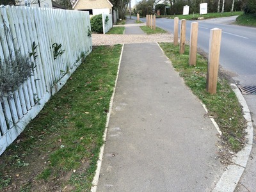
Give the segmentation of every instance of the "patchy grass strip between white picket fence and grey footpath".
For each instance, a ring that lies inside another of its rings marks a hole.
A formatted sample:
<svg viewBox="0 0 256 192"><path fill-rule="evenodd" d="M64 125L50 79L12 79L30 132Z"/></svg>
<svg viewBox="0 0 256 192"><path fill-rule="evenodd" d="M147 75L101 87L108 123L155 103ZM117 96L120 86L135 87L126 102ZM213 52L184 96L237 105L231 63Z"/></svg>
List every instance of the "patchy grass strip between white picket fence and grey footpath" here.
<svg viewBox="0 0 256 192"><path fill-rule="evenodd" d="M122 45L93 48L0 157L1 191L90 191Z"/></svg>

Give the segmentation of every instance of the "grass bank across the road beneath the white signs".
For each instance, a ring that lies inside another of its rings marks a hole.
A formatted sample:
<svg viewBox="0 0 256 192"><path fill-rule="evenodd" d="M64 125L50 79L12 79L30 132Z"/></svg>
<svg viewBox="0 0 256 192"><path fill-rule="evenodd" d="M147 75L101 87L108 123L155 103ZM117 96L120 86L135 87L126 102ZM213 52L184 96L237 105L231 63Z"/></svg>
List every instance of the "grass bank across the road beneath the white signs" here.
<svg viewBox="0 0 256 192"><path fill-rule="evenodd" d="M172 15L169 18L174 19L174 17L179 17L179 19L186 20L197 20L198 17L204 17L204 19L211 19L216 17L230 17L234 15L242 15L243 12L224 12L224 13L207 13L205 15L200 15L199 13L189 14L189 15Z"/></svg>

